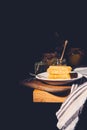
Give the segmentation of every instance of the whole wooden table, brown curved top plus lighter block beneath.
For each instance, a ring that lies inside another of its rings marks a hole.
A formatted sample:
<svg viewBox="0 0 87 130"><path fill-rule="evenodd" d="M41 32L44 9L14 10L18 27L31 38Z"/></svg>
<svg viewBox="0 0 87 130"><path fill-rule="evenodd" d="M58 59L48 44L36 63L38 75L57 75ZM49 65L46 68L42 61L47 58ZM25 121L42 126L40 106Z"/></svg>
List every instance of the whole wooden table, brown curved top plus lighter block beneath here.
<svg viewBox="0 0 87 130"><path fill-rule="evenodd" d="M23 85L33 89L33 102L62 103L69 95L71 86L54 86L39 80L25 81Z"/></svg>

